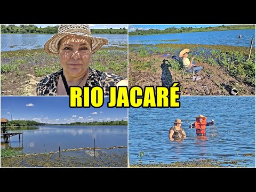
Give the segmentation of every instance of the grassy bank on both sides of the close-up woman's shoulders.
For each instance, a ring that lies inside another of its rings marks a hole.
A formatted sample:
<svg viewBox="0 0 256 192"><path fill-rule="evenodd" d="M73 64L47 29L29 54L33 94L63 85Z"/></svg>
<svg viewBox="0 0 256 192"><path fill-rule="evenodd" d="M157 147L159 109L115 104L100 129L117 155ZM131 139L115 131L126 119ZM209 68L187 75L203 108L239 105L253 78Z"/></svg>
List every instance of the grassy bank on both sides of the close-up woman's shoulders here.
<svg viewBox="0 0 256 192"><path fill-rule="evenodd" d="M101 48L90 67L127 77L127 48ZM1 52L1 94L34 95L35 84L59 69L59 58L43 49Z"/></svg>

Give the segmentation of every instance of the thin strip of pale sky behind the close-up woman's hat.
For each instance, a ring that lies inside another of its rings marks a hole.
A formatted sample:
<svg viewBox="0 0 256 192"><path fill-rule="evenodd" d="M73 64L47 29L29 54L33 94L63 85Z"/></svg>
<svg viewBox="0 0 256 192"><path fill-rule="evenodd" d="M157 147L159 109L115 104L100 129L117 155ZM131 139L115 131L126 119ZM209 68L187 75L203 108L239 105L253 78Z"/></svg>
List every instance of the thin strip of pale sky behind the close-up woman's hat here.
<svg viewBox="0 0 256 192"><path fill-rule="evenodd" d="M9 24L6 24L6 25L9 25ZM16 26L19 26L20 24L15 24ZM29 24L25 24L25 25L29 25ZM45 28L47 26L50 26L50 27L53 27L53 26L59 26L60 24L40 24L40 25L37 25L35 24L35 26L37 27L42 27L42 28ZM128 25L127 24L89 24L90 28L91 29L110 29L110 28L113 28L113 29L120 29L120 28L128 28Z"/></svg>

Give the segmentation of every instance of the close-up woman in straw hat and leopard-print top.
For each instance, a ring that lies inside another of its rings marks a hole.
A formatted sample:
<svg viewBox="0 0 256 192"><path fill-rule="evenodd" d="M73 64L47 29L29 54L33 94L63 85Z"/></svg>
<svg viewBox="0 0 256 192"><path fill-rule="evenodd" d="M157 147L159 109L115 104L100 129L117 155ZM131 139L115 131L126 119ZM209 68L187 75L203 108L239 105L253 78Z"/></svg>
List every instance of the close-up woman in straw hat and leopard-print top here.
<svg viewBox="0 0 256 192"><path fill-rule="evenodd" d="M62 69L37 83L36 94L69 95L69 86L101 86L109 95L109 86L127 86L126 78L89 67L92 54L107 44L107 39L91 35L89 25L60 25L44 50L59 56Z"/></svg>

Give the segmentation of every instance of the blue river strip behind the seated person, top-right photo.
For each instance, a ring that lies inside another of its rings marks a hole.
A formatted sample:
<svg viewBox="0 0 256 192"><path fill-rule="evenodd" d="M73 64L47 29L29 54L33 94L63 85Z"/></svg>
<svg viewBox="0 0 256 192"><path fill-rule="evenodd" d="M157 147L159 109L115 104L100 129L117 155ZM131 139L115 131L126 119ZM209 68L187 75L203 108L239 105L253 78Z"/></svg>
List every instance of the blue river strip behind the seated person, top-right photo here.
<svg viewBox="0 0 256 192"><path fill-rule="evenodd" d="M242 34L242 38L238 38ZM250 47L251 39L254 38L253 47L255 47L255 30L227 30L210 31L197 33L177 33L161 35L136 35L129 36L129 44L203 44L203 45L233 45ZM180 41L165 42L163 40L180 39Z"/></svg>

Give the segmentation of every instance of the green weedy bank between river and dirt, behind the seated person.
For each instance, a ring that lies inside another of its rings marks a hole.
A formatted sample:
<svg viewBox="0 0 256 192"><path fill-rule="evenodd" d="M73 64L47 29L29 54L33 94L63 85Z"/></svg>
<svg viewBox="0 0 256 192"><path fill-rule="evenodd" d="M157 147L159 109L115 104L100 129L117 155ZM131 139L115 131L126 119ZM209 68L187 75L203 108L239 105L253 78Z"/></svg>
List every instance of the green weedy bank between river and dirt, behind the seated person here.
<svg viewBox="0 0 256 192"><path fill-rule="evenodd" d="M129 85L135 85L136 76L142 71L148 73L148 76L154 75L157 71L155 63L161 65L163 59L169 59L169 67L171 72L175 72L175 77L177 74L181 76L182 62L171 57L178 56L185 48L190 49L188 57L194 55L196 63L204 63L213 70L215 68L214 71L205 71L207 75L213 76L213 81L214 75L222 73L235 78L241 84L255 86L255 48L252 49L251 58L247 60L249 47L196 44L129 45ZM177 81L180 81L178 77Z"/></svg>

